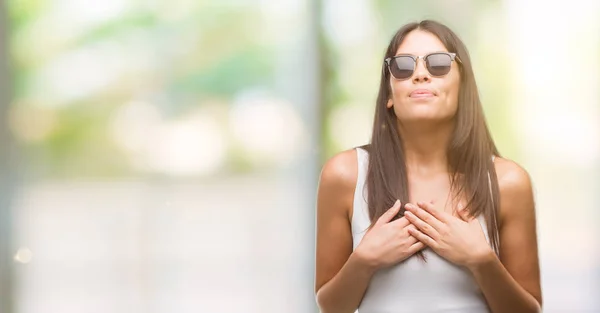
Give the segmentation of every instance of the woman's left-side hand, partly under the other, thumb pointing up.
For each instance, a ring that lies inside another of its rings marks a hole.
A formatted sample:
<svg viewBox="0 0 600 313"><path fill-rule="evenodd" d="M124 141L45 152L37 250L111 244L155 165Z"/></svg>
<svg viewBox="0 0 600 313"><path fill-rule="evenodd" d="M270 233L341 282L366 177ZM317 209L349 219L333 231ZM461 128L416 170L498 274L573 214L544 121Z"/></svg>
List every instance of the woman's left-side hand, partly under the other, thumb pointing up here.
<svg viewBox="0 0 600 313"><path fill-rule="evenodd" d="M409 229L416 228L405 217L390 222L399 210L398 200L367 231L354 251L359 259L375 270L400 263L425 247L409 234Z"/></svg>

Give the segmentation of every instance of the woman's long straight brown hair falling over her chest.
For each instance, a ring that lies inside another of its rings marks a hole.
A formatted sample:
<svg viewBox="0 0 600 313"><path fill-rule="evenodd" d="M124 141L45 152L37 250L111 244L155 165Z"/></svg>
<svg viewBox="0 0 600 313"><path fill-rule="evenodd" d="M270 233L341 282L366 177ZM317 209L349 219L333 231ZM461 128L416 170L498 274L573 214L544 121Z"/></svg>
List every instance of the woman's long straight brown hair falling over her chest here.
<svg viewBox="0 0 600 313"><path fill-rule="evenodd" d="M492 155L499 155L487 128L479 99L471 60L463 42L448 27L425 20L401 27L392 38L384 59L396 54L408 33L420 29L437 36L449 52L460 59L460 90L455 128L447 147L450 171L450 191L453 197L466 199L465 210L471 217L483 214L487 223L492 248L498 252L497 212L500 207L498 180ZM396 199L409 202L408 178L402 137L397 129L397 117L386 104L391 98L390 74L381 62L381 82L375 108L371 143L364 148L369 152L366 188L368 189L369 217L374 223ZM491 185L488 179L491 179ZM400 215L404 214L401 210Z"/></svg>

